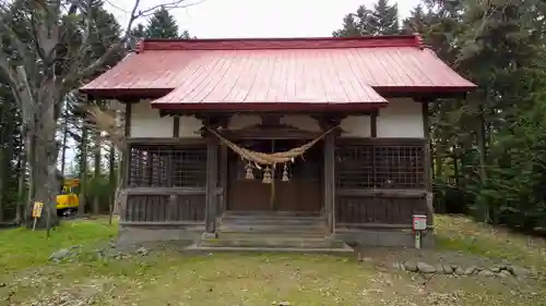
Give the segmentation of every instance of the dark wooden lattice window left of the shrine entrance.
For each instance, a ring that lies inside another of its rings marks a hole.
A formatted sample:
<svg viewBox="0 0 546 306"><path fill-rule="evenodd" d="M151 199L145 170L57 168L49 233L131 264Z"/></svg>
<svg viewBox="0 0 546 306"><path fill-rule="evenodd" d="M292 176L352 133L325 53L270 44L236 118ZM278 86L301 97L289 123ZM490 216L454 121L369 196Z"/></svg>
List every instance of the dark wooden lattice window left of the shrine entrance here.
<svg viewBox="0 0 546 306"><path fill-rule="evenodd" d="M205 187L206 145L132 145L130 187Z"/></svg>

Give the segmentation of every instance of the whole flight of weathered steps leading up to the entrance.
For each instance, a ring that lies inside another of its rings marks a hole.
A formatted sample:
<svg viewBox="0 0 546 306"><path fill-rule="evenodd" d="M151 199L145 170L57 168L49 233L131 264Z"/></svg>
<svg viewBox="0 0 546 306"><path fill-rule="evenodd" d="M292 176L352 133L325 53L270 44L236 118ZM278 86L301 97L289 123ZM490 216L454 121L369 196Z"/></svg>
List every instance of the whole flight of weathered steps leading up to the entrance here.
<svg viewBox="0 0 546 306"><path fill-rule="evenodd" d="M189 249L206 252L353 252L328 232L318 213L227 212L218 219L217 237Z"/></svg>

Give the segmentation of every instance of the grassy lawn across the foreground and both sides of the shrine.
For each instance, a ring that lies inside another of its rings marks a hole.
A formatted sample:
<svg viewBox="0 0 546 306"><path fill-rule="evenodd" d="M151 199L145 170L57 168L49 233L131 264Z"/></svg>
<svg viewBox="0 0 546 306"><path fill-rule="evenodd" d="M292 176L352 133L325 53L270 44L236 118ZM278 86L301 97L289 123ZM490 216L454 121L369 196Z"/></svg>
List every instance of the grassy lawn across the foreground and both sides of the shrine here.
<svg viewBox="0 0 546 306"><path fill-rule="evenodd" d="M463 218L437 218L439 249L546 267L546 244ZM544 284L416 274L325 255L152 252L118 260L48 262L62 247L94 249L116 225L72 221L54 232L0 232L0 305L546 305ZM85 248L84 247L84 248ZM355 256L356 257L356 256Z"/></svg>

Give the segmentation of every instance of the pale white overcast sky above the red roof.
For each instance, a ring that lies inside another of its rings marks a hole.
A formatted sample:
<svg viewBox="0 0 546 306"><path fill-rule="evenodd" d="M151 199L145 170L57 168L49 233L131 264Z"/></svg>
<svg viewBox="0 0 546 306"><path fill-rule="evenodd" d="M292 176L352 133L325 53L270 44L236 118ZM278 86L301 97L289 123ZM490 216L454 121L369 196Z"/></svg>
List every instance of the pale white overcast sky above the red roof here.
<svg viewBox="0 0 546 306"><path fill-rule="evenodd" d="M105 4L126 27L135 0L106 0ZM139 9L171 0L141 0ZM173 10L181 30L198 38L329 37L343 17L376 0L187 0L188 8ZM419 0L397 2L401 17ZM141 21L144 24L146 20Z"/></svg>

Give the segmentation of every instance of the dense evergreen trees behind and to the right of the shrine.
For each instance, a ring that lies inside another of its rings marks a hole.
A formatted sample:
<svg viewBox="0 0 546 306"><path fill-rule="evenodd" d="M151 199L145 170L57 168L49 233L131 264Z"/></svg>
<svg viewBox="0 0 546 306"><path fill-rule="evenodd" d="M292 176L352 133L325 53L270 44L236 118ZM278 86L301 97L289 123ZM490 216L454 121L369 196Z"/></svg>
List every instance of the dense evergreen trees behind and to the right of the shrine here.
<svg viewBox="0 0 546 306"><path fill-rule="evenodd" d="M334 35L389 32L388 22L377 22L392 15L380 2L348 14ZM546 3L422 0L402 24L479 86L431 105L437 211L546 227Z"/></svg>

